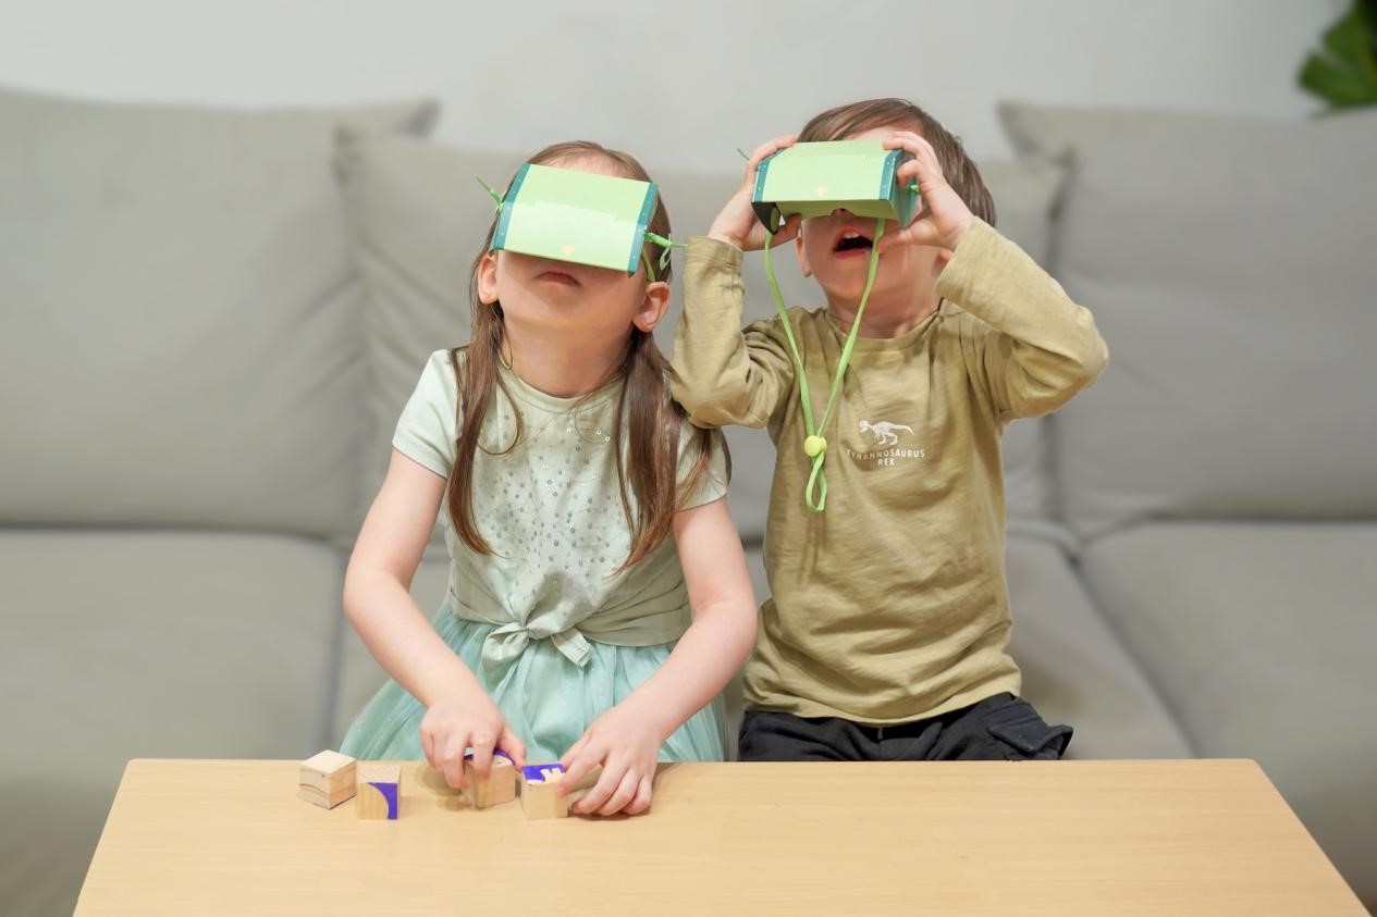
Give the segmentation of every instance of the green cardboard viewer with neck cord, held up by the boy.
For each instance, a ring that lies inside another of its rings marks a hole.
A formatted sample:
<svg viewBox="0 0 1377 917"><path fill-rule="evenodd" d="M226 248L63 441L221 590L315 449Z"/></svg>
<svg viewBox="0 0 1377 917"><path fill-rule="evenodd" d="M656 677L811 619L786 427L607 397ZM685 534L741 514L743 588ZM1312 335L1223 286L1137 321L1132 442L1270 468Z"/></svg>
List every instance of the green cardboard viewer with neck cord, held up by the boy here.
<svg viewBox="0 0 1377 917"><path fill-rule="evenodd" d="M847 365L851 362L851 350L855 347L856 335L861 330L861 317L865 314L866 300L870 299L870 288L874 286L874 274L880 267L880 237L884 235L884 222L898 220L899 226L903 227L912 223L918 212L918 186L914 183L901 185L896 175L898 168L910 158L913 157L903 150L884 149L880 140L828 140L795 143L763 160L756 169L756 189L750 197L750 205L766 227L766 277L770 278L770 291L774 293L775 308L779 310L779 319L785 336L789 339L795 373L799 376L799 401L803 402L803 425L807 434L803 441L803 452L812 461L812 471L808 474L808 486L803 498L814 512L822 512L828 505L828 475L822 471L822 463L828 454L828 441L823 431L828 428L828 421L836 408L841 381L845 377ZM822 412L822 420L814 423L808 376L803 369L803 358L799 355L799 344L793 336L793 325L789 322L789 311L785 308L784 295L779 292L779 281L775 280L770 249L784 218L795 213L804 218L826 216L836 209L847 209L856 216L874 218L874 238L870 240L870 266L866 271L865 291L861 293L856 317L841 348L841 358L837 361L837 372L832 379L832 390Z"/></svg>

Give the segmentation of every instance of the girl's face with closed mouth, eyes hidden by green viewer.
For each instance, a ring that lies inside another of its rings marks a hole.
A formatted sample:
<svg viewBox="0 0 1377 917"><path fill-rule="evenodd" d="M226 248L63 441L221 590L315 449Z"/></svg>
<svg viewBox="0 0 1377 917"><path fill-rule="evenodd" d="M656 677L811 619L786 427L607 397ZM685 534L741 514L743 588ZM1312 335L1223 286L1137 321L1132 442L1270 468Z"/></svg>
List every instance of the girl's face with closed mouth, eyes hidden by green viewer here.
<svg viewBox="0 0 1377 917"><path fill-rule="evenodd" d="M566 169L624 178L600 156L548 162ZM646 266L628 277L606 267L570 264L515 252L489 252L478 267L478 299L501 302L509 328L558 332L570 347L621 343L631 329L653 330L669 307L669 285L647 282Z"/></svg>

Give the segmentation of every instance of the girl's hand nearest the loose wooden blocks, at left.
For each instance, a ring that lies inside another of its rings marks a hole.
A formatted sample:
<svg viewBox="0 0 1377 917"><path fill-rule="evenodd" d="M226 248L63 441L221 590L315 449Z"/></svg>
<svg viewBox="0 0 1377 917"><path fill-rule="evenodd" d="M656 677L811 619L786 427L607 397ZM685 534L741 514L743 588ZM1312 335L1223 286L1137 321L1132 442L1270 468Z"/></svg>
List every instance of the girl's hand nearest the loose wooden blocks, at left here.
<svg viewBox="0 0 1377 917"><path fill-rule="evenodd" d="M464 753L470 746L478 779L492 772L494 749L505 752L516 767L526 764L526 746L486 694L456 694L431 704L421 719L421 750L454 789L468 789Z"/></svg>

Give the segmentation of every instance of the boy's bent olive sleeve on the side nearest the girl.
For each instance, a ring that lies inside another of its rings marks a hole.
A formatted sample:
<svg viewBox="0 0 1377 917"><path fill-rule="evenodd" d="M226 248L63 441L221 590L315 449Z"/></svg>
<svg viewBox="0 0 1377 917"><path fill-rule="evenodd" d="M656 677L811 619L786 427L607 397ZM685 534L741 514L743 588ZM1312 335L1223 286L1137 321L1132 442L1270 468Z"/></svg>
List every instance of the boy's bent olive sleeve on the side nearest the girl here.
<svg viewBox="0 0 1377 917"><path fill-rule="evenodd" d="M671 386L700 427L763 427L793 390L793 361L779 321L739 330L741 256L727 242L688 240Z"/></svg>

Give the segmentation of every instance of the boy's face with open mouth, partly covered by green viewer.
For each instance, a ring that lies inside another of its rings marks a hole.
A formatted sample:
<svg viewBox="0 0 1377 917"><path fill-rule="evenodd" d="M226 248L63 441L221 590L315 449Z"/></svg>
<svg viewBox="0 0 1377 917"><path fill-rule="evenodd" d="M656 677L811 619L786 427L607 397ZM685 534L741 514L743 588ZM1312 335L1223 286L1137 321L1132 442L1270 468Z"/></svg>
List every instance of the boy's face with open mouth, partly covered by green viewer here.
<svg viewBox="0 0 1377 917"><path fill-rule="evenodd" d="M841 139L888 140L895 131L916 129L917 125L891 124ZM861 302L866 273L870 267L874 223L874 218L855 216L845 209L836 209L828 216L815 216L803 222L796 240L799 264L804 275L818 280L829 303L854 308ZM898 220L885 220L887 234L898 227ZM885 246L880 255L866 314L870 314L874 307L903 308L905 303L920 306L931 299L938 275L947 259L950 259L950 252L927 245Z"/></svg>

